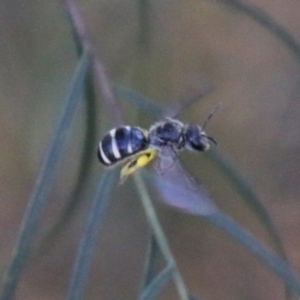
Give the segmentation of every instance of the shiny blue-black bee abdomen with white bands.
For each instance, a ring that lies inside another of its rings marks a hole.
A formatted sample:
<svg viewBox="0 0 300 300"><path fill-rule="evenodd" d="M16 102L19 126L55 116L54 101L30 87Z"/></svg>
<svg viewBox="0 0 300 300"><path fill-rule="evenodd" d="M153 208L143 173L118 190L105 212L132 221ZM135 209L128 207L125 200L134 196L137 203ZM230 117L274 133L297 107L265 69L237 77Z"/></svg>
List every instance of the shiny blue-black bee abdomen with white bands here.
<svg viewBox="0 0 300 300"><path fill-rule="evenodd" d="M98 158L106 166L113 165L148 147L145 132L138 127L123 126L110 130L99 143Z"/></svg>

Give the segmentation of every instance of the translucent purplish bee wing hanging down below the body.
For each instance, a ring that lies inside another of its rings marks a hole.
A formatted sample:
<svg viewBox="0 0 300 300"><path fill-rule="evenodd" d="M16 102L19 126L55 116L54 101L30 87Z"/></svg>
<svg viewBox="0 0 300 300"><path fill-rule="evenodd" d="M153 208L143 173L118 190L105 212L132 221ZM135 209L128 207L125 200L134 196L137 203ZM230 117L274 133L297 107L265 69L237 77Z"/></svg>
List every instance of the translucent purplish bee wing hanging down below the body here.
<svg viewBox="0 0 300 300"><path fill-rule="evenodd" d="M183 169L172 149L161 149L154 167L157 176L153 183L166 204L195 215L218 211L205 189Z"/></svg>

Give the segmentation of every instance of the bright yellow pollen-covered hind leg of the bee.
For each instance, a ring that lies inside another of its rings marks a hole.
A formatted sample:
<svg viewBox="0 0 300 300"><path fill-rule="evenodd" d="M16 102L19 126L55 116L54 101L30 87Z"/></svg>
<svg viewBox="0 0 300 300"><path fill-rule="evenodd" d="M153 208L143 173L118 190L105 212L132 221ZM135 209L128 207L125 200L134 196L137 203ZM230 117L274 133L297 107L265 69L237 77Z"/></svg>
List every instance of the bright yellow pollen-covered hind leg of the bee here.
<svg viewBox="0 0 300 300"><path fill-rule="evenodd" d="M122 168L120 174L120 183L123 183L126 178L136 170L146 166L155 156L155 149L147 149L135 155Z"/></svg>

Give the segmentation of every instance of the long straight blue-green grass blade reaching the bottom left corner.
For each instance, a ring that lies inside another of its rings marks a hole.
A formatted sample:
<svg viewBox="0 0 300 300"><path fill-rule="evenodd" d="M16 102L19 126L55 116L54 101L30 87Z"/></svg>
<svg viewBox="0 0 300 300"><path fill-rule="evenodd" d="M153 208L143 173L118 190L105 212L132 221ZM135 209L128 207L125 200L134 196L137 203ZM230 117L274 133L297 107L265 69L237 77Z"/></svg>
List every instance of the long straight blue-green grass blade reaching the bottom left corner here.
<svg viewBox="0 0 300 300"><path fill-rule="evenodd" d="M14 247L9 266L4 274L1 300L13 299L25 263L38 229L38 221L47 203L47 194L58 167L75 110L82 99L84 78L89 67L89 58L84 54L77 66L70 93L63 109L49 150L44 157L38 178L22 220L19 237Z"/></svg>

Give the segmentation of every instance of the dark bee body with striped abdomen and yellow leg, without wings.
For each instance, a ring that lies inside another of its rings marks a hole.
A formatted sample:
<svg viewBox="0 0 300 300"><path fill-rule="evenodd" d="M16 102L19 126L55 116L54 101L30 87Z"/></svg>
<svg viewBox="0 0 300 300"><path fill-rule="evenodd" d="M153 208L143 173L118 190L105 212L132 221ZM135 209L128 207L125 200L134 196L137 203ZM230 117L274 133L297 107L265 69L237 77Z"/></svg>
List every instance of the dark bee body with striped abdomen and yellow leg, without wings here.
<svg viewBox="0 0 300 300"><path fill-rule="evenodd" d="M212 113L203 126L166 118L154 123L149 130L129 125L111 129L99 143L98 158L105 166L124 162L120 175L123 182L128 175L146 166L164 149L172 152L172 157L183 149L207 151L210 142L216 144L204 131L211 116Z"/></svg>

